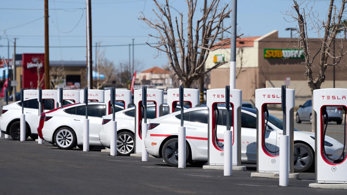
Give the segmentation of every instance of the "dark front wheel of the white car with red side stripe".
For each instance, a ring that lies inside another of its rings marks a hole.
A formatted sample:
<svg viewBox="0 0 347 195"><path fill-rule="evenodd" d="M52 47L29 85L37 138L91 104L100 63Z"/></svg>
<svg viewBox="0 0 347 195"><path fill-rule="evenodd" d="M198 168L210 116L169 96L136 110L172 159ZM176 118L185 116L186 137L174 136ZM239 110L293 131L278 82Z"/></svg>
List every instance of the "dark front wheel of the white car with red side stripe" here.
<svg viewBox="0 0 347 195"><path fill-rule="evenodd" d="M310 146L303 143L294 144L294 171L310 170L314 163L314 153Z"/></svg>

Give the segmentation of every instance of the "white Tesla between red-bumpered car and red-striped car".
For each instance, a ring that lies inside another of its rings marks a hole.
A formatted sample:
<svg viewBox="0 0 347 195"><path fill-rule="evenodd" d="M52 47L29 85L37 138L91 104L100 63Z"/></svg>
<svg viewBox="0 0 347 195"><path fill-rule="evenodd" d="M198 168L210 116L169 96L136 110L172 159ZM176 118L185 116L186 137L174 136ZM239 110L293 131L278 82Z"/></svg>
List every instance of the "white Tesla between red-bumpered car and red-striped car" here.
<svg viewBox="0 0 347 195"><path fill-rule="evenodd" d="M185 106L185 109L187 107ZM177 106L176 110L180 110L181 107ZM163 116L167 115L168 105L163 104ZM102 117L102 127L99 133L100 143L110 148L110 123L112 115ZM147 105L147 119L155 118L155 105ZM134 153L134 141L135 141L135 107L128 108L126 110L117 112L115 115L117 121L117 154L121 156L129 156ZM150 121L150 120L149 120ZM144 121L142 121L144 123Z"/></svg>

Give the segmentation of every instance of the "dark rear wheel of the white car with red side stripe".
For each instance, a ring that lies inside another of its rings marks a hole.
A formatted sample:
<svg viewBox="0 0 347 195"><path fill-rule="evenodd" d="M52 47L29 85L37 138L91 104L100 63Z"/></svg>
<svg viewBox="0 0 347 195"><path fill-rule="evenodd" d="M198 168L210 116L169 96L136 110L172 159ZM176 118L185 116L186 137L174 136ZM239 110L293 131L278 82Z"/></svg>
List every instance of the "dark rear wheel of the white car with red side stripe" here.
<svg viewBox="0 0 347 195"><path fill-rule="evenodd" d="M178 167L178 138L169 139L161 150L164 161L172 166ZM186 144L186 162L188 162L190 149L188 144Z"/></svg>

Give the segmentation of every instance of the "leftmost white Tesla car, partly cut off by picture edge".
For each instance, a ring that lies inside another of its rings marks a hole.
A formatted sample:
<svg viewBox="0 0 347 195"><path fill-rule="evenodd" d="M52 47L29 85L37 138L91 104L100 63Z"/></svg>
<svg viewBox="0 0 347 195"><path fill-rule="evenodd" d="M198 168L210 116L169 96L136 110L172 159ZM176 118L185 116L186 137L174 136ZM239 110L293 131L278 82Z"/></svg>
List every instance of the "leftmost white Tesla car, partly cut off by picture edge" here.
<svg viewBox="0 0 347 195"><path fill-rule="evenodd" d="M69 100L64 101L64 105L73 104ZM25 114L25 136L37 139L37 127L39 126L39 102L37 97L28 98L23 101ZM43 99L43 110L47 112L54 109L53 99ZM14 140L20 139L20 114L22 114L22 102L17 101L2 106L0 119L0 129L2 133L8 134Z"/></svg>

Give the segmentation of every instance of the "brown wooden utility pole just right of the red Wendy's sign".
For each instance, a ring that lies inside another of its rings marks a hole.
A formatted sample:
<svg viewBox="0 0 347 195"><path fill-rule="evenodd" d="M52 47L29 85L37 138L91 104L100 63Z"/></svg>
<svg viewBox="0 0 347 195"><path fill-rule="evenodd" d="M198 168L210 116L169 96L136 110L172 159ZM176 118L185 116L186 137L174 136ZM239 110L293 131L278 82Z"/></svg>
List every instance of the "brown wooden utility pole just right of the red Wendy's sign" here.
<svg viewBox="0 0 347 195"><path fill-rule="evenodd" d="M44 88L49 90L49 29L48 29L48 0L44 0Z"/></svg>

